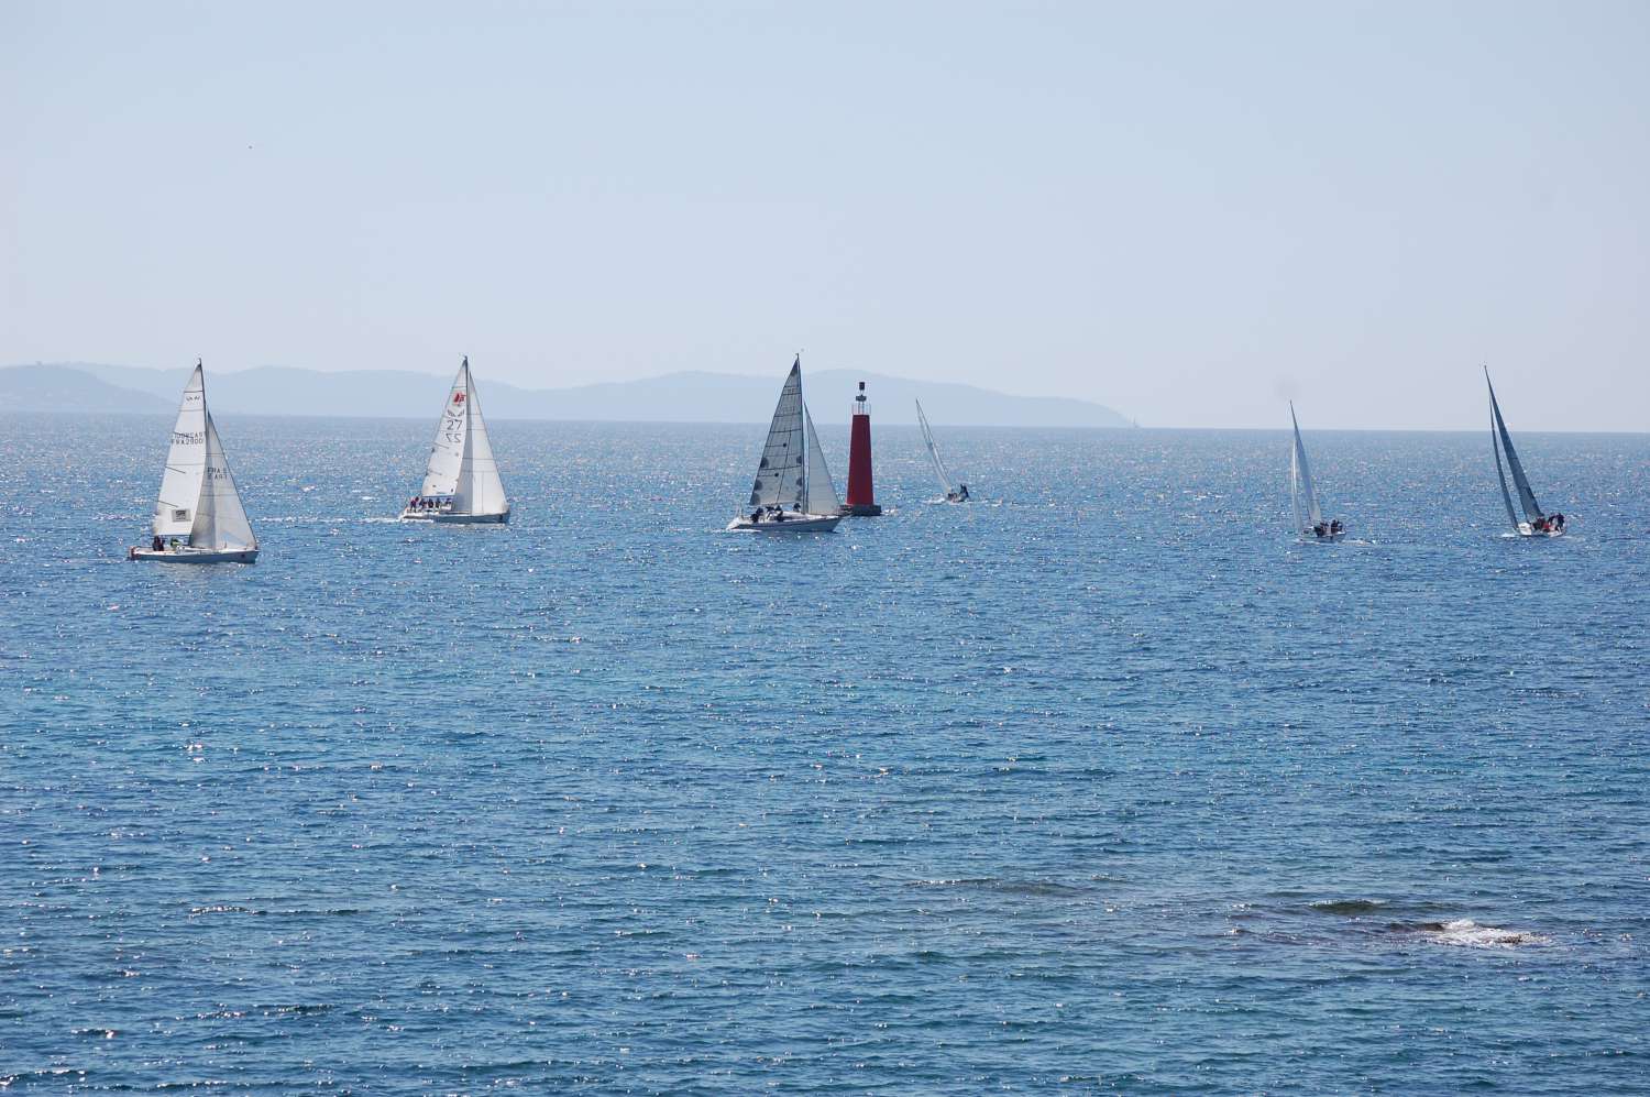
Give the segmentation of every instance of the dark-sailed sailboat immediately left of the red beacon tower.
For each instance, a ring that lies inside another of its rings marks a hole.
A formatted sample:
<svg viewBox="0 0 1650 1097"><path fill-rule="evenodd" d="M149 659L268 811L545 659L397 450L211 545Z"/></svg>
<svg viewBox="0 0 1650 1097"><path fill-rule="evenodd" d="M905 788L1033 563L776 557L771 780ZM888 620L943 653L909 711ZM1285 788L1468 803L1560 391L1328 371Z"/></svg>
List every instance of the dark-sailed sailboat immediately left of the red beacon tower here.
<svg viewBox="0 0 1650 1097"><path fill-rule="evenodd" d="M774 422L767 427L762 460L751 485L751 513L739 513L729 530L761 533L828 533L842 521L837 488L825 467L825 450L813 432L813 416L802 401L802 356L790 365L779 389Z"/></svg>

